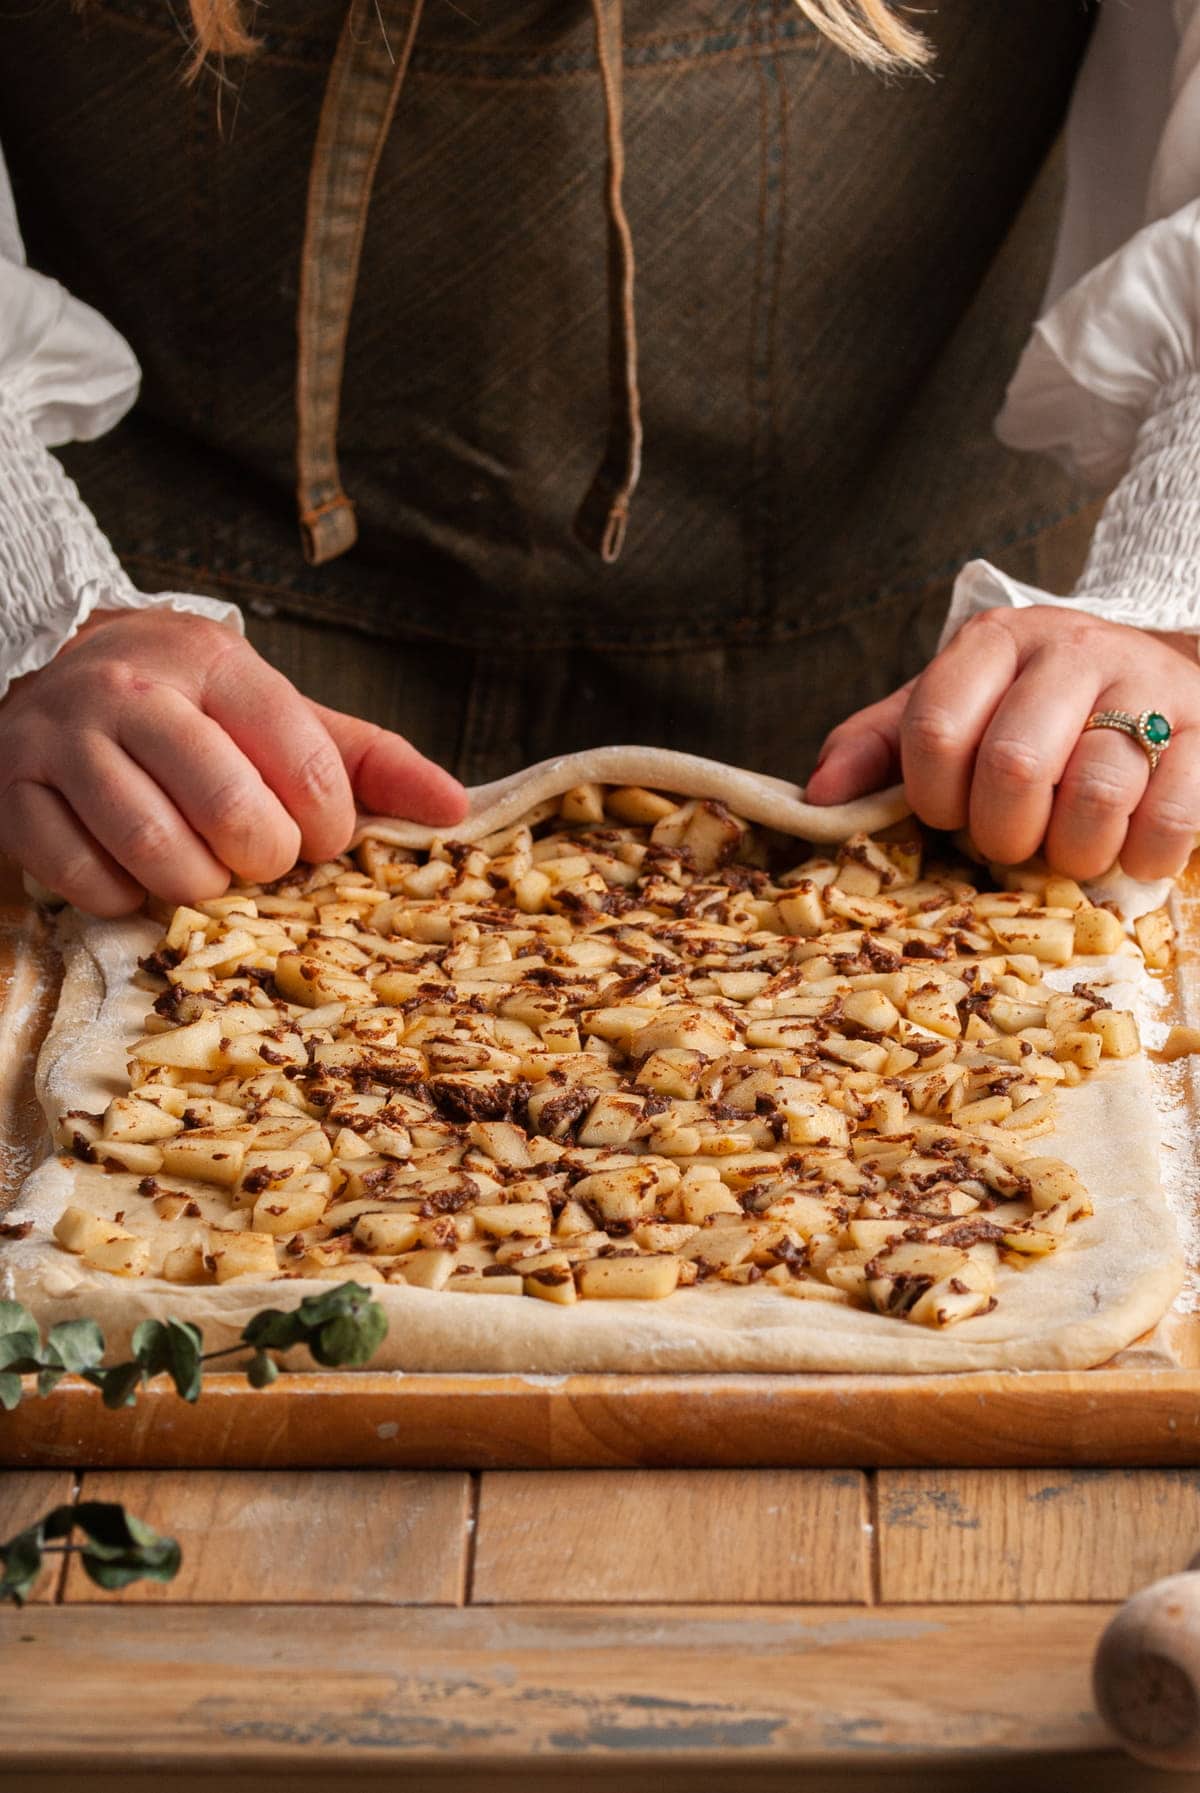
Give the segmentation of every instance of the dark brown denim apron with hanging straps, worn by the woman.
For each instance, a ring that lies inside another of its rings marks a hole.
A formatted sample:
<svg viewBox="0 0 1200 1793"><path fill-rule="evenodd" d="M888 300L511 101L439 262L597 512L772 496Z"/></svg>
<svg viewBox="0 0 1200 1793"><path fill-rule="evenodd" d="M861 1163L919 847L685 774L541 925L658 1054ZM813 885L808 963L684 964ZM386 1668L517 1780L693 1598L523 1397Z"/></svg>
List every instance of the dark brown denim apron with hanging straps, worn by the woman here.
<svg viewBox="0 0 1200 1793"><path fill-rule="evenodd" d="M990 418L1089 13L920 22L883 81L795 0L296 0L188 88L165 0L0 0L30 262L143 368L65 452L131 576L470 780L804 776L1083 502Z"/></svg>

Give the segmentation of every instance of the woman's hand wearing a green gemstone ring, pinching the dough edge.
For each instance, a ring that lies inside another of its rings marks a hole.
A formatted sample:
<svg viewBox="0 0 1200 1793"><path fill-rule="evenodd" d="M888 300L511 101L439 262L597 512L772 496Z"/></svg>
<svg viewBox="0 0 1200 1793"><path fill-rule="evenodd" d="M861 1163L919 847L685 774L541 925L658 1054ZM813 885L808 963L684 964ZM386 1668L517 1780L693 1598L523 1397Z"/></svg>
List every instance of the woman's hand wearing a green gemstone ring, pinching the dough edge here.
<svg viewBox="0 0 1200 1793"><path fill-rule="evenodd" d="M1143 748L1092 710L1159 710L1171 744ZM1200 832L1200 665L1184 637L1051 606L972 617L926 671L825 741L811 803L904 778L935 828L969 828L999 864L1039 848L1057 871L1173 877Z"/></svg>

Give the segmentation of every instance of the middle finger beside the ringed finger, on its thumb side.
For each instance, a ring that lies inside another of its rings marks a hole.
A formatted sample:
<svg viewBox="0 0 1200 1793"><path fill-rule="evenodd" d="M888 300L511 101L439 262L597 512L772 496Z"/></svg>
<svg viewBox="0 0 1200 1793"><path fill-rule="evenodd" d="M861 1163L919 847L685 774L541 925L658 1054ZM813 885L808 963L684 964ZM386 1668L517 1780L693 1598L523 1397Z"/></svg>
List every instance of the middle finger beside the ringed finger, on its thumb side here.
<svg viewBox="0 0 1200 1793"><path fill-rule="evenodd" d="M1042 647L1001 697L970 778L969 827L987 859L1015 866L1039 850L1098 685L1060 649Z"/></svg>

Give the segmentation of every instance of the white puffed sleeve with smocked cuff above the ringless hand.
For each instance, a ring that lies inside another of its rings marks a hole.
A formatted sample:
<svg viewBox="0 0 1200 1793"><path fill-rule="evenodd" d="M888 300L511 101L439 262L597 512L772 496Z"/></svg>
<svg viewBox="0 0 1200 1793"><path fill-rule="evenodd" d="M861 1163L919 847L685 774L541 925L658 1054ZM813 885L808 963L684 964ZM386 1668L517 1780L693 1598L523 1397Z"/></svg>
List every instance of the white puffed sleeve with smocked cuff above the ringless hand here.
<svg viewBox="0 0 1200 1793"><path fill-rule="evenodd" d="M99 312L25 265L0 156L0 696L47 665L93 610L172 610L240 628L233 604L138 592L50 454L111 429L138 364Z"/></svg>

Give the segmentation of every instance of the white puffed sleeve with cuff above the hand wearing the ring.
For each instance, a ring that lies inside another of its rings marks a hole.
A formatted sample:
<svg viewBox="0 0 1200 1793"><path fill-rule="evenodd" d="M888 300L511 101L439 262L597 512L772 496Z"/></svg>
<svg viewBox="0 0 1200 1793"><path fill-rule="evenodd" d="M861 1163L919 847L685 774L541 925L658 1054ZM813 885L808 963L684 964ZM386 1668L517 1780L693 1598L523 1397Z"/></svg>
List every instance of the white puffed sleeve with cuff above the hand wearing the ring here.
<svg viewBox="0 0 1200 1793"><path fill-rule="evenodd" d="M996 429L1112 491L1069 599L972 561L943 642L1030 602L1200 637L1198 0L1101 0L1046 307Z"/></svg>

